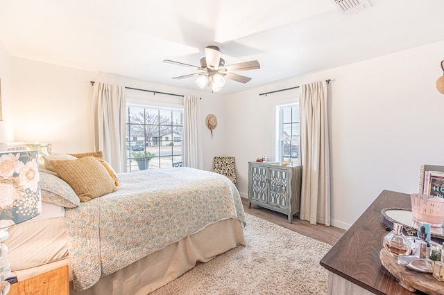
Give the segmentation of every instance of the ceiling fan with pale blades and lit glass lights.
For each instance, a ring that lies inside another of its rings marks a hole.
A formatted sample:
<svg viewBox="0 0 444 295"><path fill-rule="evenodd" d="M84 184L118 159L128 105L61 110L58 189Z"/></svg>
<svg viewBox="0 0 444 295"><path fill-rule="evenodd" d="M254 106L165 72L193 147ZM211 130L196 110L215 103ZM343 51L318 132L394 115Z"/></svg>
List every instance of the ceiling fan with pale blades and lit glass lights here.
<svg viewBox="0 0 444 295"><path fill-rule="evenodd" d="M173 60L164 60L169 64L178 64L180 66L188 66L198 70L197 73L191 73L189 75L180 75L173 79L184 79L195 76L200 76L196 80L196 84L200 89L203 89L205 85L212 88L212 92L216 92L222 89L225 84L225 79L230 79L236 82L246 83L251 80L244 75L232 73L232 71L248 71L260 69L259 62L257 60L251 60L250 62L239 62L237 64L230 64L225 66L225 60L221 58L221 51L218 46L210 45L204 48L205 57L200 59L200 66L193 66L192 64L184 64L182 62L175 62Z"/></svg>

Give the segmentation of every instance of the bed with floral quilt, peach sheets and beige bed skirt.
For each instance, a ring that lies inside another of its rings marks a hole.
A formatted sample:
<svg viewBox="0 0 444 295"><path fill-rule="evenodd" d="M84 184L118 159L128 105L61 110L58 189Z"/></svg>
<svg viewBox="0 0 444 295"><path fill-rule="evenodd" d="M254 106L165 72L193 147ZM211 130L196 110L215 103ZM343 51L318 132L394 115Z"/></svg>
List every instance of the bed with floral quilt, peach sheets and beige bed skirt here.
<svg viewBox="0 0 444 295"><path fill-rule="evenodd" d="M78 159L91 158L98 160ZM60 160L67 161L78 162ZM46 168L42 213L9 229L6 258L17 280L69 265L71 294L148 294L196 262L246 244L239 192L223 175L114 172L115 190L78 202L74 186Z"/></svg>

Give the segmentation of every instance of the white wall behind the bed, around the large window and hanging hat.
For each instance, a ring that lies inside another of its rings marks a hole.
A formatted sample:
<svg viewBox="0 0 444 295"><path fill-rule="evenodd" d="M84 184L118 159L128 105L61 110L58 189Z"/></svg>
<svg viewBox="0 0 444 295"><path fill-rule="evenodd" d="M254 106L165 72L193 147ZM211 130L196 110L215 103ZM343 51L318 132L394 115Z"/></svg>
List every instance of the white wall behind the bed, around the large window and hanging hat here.
<svg viewBox="0 0 444 295"><path fill-rule="evenodd" d="M0 69L3 69L3 62ZM207 114L213 113L222 122L224 120L224 100L216 93L167 87L119 75L73 69L19 57L12 57L12 80L14 141L51 143L53 152L94 150L93 87L89 81L95 80L202 98L200 109L204 169L211 170L213 157L223 154L224 125L219 124L214 130L214 138L211 138L210 131L205 127ZM144 95L149 100L153 93L144 92ZM177 100L175 96L169 97Z"/></svg>

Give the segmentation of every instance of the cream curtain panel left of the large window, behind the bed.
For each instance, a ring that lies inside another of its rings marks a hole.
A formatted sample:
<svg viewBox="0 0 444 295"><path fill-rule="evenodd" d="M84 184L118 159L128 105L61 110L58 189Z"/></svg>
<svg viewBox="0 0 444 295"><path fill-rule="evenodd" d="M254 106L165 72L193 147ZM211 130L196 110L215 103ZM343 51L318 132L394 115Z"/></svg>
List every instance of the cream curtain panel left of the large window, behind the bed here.
<svg viewBox="0 0 444 295"><path fill-rule="evenodd" d="M126 172L126 100L124 87L96 82L92 96L94 147L116 172Z"/></svg>

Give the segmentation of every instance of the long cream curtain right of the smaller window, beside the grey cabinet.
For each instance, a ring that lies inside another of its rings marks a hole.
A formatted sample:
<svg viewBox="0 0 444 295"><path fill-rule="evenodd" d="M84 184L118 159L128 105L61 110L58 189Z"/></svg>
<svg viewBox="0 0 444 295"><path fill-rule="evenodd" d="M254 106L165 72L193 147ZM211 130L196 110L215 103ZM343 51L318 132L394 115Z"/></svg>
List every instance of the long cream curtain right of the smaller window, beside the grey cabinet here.
<svg viewBox="0 0 444 295"><path fill-rule="evenodd" d="M299 109L302 165L300 219L330 226L330 155L325 81L301 86Z"/></svg>

